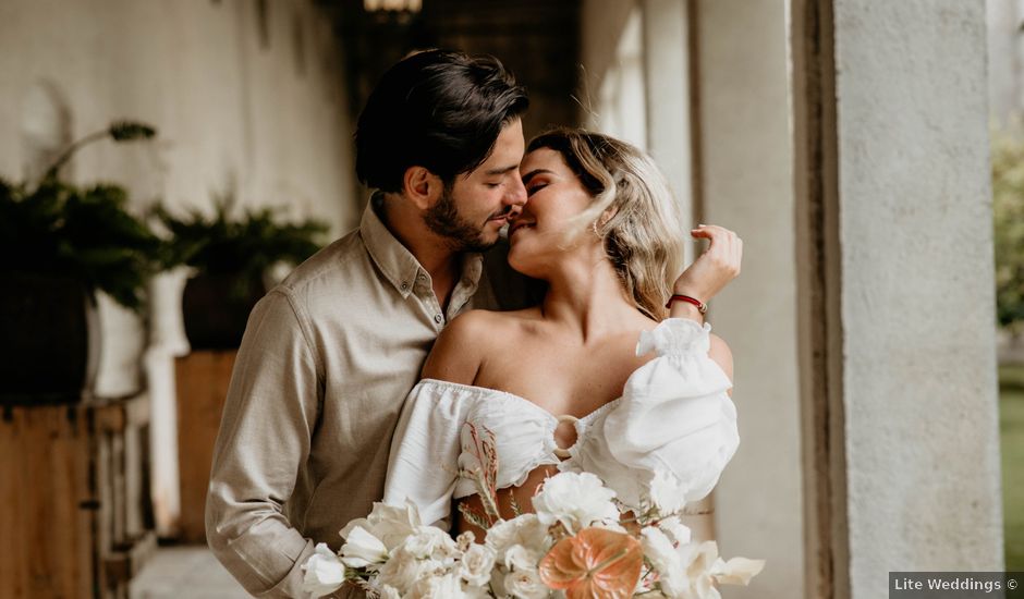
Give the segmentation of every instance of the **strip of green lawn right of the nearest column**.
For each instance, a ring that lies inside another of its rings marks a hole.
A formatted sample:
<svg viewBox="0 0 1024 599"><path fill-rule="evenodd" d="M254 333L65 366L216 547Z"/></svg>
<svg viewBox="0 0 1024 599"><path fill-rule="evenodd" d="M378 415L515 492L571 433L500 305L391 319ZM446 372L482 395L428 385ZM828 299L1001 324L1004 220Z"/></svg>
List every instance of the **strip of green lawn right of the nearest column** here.
<svg viewBox="0 0 1024 599"><path fill-rule="evenodd" d="M1007 571L1024 572L1024 365L999 368L999 431Z"/></svg>

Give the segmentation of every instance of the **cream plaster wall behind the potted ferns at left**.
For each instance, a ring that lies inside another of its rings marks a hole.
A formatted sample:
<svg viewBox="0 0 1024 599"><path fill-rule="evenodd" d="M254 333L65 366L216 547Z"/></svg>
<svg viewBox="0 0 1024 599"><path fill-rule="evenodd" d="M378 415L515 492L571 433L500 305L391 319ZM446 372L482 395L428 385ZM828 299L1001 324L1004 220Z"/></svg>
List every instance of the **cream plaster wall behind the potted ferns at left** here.
<svg viewBox="0 0 1024 599"><path fill-rule="evenodd" d="M358 219L341 49L312 0L267 2L263 48L253 0L4 0L0 2L0 175L21 178L25 98L48 82L66 100L73 138L112 119L154 124L153 144L105 142L76 156L70 178L126 185L133 206L209 207L234 188L242 205L287 204L332 234ZM302 28L305 72L293 32ZM178 513L173 355L180 279L154 283L147 332L101 300L98 390L129 393L148 377L153 399L154 499L161 531ZM143 353L146 356L143 360ZM142 365L145 366L142 366Z"/></svg>

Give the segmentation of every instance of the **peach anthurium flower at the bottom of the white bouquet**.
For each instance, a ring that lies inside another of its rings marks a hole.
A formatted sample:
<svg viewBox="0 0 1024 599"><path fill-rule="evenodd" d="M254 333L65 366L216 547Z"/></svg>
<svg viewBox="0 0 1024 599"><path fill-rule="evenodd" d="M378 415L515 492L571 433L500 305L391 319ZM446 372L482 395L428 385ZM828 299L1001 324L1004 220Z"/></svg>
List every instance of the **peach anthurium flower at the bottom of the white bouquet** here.
<svg viewBox="0 0 1024 599"><path fill-rule="evenodd" d="M554 545L540 560L540 579L568 599L633 596L644 565L639 541L625 533L584 528Z"/></svg>

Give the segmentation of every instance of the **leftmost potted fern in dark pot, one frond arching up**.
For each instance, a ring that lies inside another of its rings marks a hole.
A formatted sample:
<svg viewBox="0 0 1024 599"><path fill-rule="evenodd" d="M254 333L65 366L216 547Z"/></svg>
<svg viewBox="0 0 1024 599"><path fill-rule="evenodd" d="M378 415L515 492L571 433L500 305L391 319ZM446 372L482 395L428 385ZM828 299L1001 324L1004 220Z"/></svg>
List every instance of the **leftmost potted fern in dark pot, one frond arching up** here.
<svg viewBox="0 0 1024 599"><path fill-rule="evenodd" d="M98 365L96 292L142 308L160 240L126 210L124 188L73 185L59 173L89 143L155 133L113 123L69 146L39 182L0 180L0 403L80 401Z"/></svg>

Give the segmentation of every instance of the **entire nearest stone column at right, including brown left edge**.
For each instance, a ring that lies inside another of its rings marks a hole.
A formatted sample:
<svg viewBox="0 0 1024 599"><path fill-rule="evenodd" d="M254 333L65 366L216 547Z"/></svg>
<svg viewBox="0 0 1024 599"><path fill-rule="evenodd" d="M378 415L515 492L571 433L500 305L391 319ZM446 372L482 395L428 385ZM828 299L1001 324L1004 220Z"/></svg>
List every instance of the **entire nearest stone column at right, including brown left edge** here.
<svg viewBox="0 0 1024 599"><path fill-rule="evenodd" d="M807 596L1001 570L985 2L791 5Z"/></svg>

